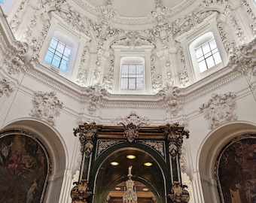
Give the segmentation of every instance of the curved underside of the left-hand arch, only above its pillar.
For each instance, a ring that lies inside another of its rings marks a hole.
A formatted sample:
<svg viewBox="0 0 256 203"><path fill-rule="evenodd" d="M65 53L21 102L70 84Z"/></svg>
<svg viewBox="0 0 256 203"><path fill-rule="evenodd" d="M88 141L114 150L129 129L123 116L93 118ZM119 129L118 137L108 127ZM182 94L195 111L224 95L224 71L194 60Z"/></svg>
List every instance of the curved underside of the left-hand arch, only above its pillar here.
<svg viewBox="0 0 256 203"><path fill-rule="evenodd" d="M44 144L52 160L52 174L58 175L60 171L64 172L67 163L69 163L67 147L62 136L53 126L43 120L22 118L6 123L1 131L12 129L27 130L38 135L38 139Z"/></svg>

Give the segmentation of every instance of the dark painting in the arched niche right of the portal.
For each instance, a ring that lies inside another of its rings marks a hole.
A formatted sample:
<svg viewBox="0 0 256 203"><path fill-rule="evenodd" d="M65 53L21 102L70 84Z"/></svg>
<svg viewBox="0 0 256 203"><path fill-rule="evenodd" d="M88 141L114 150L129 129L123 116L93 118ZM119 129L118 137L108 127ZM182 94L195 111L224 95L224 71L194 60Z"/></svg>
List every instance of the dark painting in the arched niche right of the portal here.
<svg viewBox="0 0 256 203"><path fill-rule="evenodd" d="M215 171L221 202L256 202L256 135L243 135L224 147Z"/></svg>

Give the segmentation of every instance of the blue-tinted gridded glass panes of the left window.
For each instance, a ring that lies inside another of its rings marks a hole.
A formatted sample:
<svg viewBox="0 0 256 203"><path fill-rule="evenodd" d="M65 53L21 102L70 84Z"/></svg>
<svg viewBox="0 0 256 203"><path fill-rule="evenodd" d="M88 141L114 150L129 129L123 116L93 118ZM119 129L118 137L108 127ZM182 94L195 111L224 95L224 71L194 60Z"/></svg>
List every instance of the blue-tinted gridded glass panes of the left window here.
<svg viewBox="0 0 256 203"><path fill-rule="evenodd" d="M56 38L52 38L50 46L48 47L44 61L50 65L59 68L61 71L66 71L69 64L69 56L71 48L66 44L62 43Z"/></svg>

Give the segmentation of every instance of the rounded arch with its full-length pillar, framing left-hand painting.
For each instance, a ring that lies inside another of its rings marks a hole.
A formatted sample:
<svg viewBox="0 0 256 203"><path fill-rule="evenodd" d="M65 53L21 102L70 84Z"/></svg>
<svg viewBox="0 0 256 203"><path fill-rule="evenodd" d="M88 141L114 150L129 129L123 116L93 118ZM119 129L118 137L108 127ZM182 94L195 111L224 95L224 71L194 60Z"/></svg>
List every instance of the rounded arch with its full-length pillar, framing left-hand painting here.
<svg viewBox="0 0 256 203"><path fill-rule="evenodd" d="M51 174L44 201L57 202L62 186L62 179L68 161L66 145L61 135L53 126L42 120L23 118L7 123L1 132L11 130L23 130L32 133L44 145L51 159Z"/></svg>

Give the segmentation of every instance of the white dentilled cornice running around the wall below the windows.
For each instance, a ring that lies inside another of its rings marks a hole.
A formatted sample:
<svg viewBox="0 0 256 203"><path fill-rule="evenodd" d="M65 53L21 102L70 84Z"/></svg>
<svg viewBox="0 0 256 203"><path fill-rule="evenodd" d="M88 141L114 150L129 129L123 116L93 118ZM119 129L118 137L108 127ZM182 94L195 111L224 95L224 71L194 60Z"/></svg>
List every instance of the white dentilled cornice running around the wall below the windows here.
<svg viewBox="0 0 256 203"><path fill-rule="evenodd" d="M27 47L27 44L20 43L19 41L16 41L14 39L14 36L11 32L10 27L8 26L8 23L6 23L6 19L3 16L2 11L0 12L0 14L0 50L2 52L6 51L6 53L8 53L10 56L13 56L13 58L15 59L20 59L23 64L22 66L26 67L26 69L24 69L23 71L26 71L26 74L28 74L32 78L35 78L35 80L40 81L40 83L46 84L51 89L56 89L65 95L69 95L69 97L76 99L78 102L81 102L81 104L90 104L88 100L92 98L91 95L93 95L93 87L78 86L72 81L61 77L58 74L54 74L52 71L50 71L50 69L47 69L43 65L39 64L38 61L36 61L35 59L33 59L32 62L28 61L27 59L30 59L29 47ZM180 89L181 95L178 95L177 98L175 98L177 99L178 104L191 102L202 95L213 92L215 89L218 89L219 87L224 86L225 84L230 83L231 81L236 80L239 77L244 77L244 75L240 71L238 71L239 66L241 65L239 65L239 63L237 63L236 61L237 59L244 59L246 62L247 60L250 61L250 59L252 59L252 56L247 54L254 53L255 43L256 41L254 40L248 44L243 44L242 48L243 50L247 50L246 52L237 52L240 47L233 50L233 53L237 53L236 55L238 55L239 53L239 57L234 58L231 55L233 58L230 58L230 63L225 68L221 69L218 72L215 72L215 74L212 74L209 77L204 78L203 80L198 81L197 83ZM250 50L245 49L246 46ZM4 57L5 59L8 58L6 56ZM13 61L10 62L13 63ZM252 62L253 63L249 64L254 65L254 61ZM12 74L9 73L9 76L12 77ZM254 73L252 74L252 76L254 76ZM252 82L254 82L254 80ZM163 88L164 87L162 87L162 89ZM100 86L99 89L101 89ZM101 92L104 92L104 88L102 88ZM166 101L163 94L160 95L158 93L156 95L129 95L129 97L127 97L127 95L111 95L107 92L106 89L105 93L102 93L101 95L99 95L98 98L95 99L97 103L97 107L94 108L95 111L98 108L159 108L163 109L163 111L166 111L166 102L169 101ZM175 99L171 99L171 101Z"/></svg>

